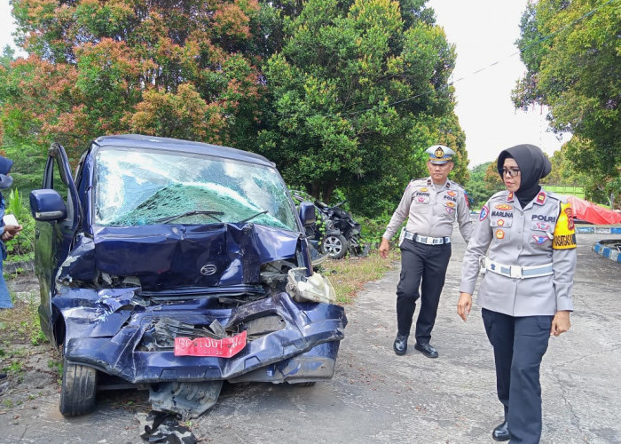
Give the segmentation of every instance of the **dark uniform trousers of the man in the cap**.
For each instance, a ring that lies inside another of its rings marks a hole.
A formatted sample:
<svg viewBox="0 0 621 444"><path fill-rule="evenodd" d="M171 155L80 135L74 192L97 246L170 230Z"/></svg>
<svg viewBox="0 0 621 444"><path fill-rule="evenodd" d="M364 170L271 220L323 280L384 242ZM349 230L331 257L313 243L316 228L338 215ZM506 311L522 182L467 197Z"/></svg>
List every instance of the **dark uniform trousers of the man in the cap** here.
<svg viewBox="0 0 621 444"><path fill-rule="evenodd" d="M426 344L436 323L437 305L444 287L451 244L427 245L405 239L401 243L401 278L397 284L397 329L409 335L416 301L421 311L416 321L416 342ZM421 282L422 281L422 282ZM419 293L419 287L421 293Z"/></svg>

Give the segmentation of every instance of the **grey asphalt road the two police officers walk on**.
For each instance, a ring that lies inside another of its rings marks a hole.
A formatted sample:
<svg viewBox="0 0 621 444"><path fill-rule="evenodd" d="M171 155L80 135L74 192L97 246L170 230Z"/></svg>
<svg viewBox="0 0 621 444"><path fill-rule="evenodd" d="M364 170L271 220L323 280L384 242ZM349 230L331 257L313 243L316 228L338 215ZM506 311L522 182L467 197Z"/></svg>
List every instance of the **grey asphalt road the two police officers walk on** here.
<svg viewBox="0 0 621 444"><path fill-rule="evenodd" d="M621 443L621 264L593 252L605 237L614 235L578 234L573 325L550 339L542 364L542 443ZM438 359L413 347L405 356L392 352L396 264L347 307L350 323L330 382L224 385L216 406L192 421L193 434L220 444L493 442L502 408L491 345L480 309L464 323L455 308L463 251L457 234L431 341ZM60 416L58 395L36 399L19 415L0 415L0 442L144 442L137 415L110 396L101 394L94 413L73 419Z"/></svg>

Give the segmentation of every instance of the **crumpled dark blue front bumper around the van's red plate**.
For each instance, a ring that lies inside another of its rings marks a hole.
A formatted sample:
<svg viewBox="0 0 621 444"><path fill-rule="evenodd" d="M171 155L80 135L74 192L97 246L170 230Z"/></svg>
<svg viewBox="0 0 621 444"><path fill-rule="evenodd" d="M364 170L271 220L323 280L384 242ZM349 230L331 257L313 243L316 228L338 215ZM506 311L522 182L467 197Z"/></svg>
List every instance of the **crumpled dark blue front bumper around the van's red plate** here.
<svg viewBox="0 0 621 444"><path fill-rule="evenodd" d="M222 308L215 298L208 297L166 305L132 305L134 296L128 289L65 289L55 297L53 303L67 322L67 361L89 365L133 384L229 379L286 361L316 345L338 344L347 324L341 306L297 303L286 292L235 308ZM176 357L172 349L141 351L138 347L147 330L161 318L194 325L217 320L231 331L245 321L274 314L284 321L284 327L248 341L231 359ZM337 351L338 347L326 350L325 357L335 360Z"/></svg>

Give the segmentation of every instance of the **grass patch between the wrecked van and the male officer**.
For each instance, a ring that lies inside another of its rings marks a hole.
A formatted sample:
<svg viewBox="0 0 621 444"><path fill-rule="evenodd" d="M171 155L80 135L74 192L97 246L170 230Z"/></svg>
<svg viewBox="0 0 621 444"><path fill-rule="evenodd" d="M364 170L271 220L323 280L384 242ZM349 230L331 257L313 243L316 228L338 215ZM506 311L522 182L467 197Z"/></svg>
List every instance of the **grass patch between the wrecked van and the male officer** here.
<svg viewBox="0 0 621 444"><path fill-rule="evenodd" d="M358 296L366 282L377 281L387 271L394 268L395 261L400 260L401 252L391 248L389 257L381 258L373 250L366 258L328 259L322 264L320 274L327 276L336 290L336 302L340 305L351 304Z"/></svg>

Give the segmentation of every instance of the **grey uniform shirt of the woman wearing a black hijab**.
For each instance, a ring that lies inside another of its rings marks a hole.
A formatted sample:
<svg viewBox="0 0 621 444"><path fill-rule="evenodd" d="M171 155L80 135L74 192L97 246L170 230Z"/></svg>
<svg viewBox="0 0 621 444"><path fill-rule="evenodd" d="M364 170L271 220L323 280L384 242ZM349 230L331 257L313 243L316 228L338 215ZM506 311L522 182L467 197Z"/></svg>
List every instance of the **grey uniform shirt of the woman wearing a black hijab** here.
<svg viewBox="0 0 621 444"><path fill-rule="evenodd" d="M573 310L571 287L576 249L553 250L561 198L542 190L524 209L513 193L501 191L483 206L461 266L460 291L473 294L485 256L507 266L543 266L553 274L511 278L490 270L483 274L476 303L510 316L554 315ZM567 223L567 222L565 222ZM573 219L570 220L573 224ZM575 240L575 237L574 237ZM488 250L489 248L489 250Z"/></svg>

